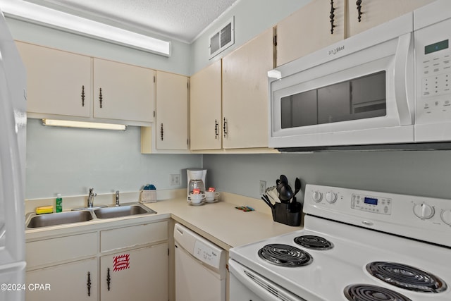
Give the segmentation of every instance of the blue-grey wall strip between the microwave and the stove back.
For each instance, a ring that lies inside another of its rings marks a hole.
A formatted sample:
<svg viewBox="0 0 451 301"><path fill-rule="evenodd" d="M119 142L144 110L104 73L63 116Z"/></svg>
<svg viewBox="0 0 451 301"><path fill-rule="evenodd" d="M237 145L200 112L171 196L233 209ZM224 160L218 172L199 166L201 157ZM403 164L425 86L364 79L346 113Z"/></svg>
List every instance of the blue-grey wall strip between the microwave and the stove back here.
<svg viewBox="0 0 451 301"><path fill-rule="evenodd" d="M259 198L259 180L281 174L305 183L451 199L450 151L204 155L207 182L219 191Z"/></svg>

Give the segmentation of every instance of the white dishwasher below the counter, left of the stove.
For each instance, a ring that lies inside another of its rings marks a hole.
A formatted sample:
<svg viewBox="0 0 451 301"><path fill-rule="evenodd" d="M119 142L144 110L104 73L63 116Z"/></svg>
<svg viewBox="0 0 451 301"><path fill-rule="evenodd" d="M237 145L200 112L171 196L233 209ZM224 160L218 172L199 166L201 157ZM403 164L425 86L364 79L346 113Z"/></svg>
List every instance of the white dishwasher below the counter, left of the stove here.
<svg viewBox="0 0 451 301"><path fill-rule="evenodd" d="M226 301L226 251L175 224L175 300Z"/></svg>

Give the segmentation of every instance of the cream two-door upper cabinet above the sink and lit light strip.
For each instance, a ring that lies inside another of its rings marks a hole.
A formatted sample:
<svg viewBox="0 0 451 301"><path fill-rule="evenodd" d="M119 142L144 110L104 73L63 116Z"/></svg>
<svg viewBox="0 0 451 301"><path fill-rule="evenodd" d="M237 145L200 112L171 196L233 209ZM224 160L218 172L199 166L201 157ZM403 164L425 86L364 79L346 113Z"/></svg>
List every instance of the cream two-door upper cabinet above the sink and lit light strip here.
<svg viewBox="0 0 451 301"><path fill-rule="evenodd" d="M27 69L27 112L129 125L154 121L154 70L16 42Z"/></svg>

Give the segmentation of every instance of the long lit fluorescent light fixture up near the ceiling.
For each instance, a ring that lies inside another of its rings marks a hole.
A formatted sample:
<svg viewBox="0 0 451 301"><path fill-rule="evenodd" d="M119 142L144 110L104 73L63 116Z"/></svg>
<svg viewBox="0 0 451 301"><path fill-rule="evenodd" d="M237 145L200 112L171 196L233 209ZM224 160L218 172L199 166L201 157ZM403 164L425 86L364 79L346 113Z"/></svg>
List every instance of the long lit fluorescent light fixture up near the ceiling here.
<svg viewBox="0 0 451 301"><path fill-rule="evenodd" d="M171 42L80 18L30 2L19 0L4 1L1 3L1 10L10 18L63 29L78 35L94 37L161 56L171 56Z"/></svg>

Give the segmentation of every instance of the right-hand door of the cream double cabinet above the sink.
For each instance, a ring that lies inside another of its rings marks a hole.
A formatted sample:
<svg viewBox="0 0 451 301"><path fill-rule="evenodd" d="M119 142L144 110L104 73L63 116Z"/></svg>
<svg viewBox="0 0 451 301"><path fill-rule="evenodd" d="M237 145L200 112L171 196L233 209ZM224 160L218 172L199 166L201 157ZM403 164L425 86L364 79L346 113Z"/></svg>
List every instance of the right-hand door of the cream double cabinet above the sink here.
<svg viewBox="0 0 451 301"><path fill-rule="evenodd" d="M94 59L94 118L154 120L154 70Z"/></svg>

